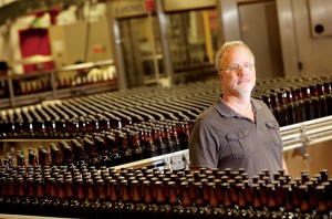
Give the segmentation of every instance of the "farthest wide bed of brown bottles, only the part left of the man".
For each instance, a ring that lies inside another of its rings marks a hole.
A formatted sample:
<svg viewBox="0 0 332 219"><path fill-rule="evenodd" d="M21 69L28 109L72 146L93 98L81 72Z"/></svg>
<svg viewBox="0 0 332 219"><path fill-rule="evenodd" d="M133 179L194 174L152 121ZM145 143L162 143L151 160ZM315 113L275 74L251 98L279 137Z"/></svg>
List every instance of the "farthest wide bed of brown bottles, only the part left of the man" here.
<svg viewBox="0 0 332 219"><path fill-rule="evenodd" d="M195 104L195 107L193 104L185 106L181 103L174 103L173 108L165 108L164 105L159 106L159 103L155 104L149 100L146 100L147 105L142 107L131 98L120 101L121 97L116 94L101 94L95 95L95 98L72 98L61 103L9 109L7 113L2 112L0 125L3 126L1 129L6 131L4 137L12 135L13 137L63 137L80 132L98 132L110 126L123 127L149 119L189 121L196 118L204 108L199 103ZM105 108L102 105L104 102L110 103L110 107L107 105ZM115 105L117 102L120 105ZM113 105L116 107L113 108ZM126 105L134 107L127 108Z"/></svg>

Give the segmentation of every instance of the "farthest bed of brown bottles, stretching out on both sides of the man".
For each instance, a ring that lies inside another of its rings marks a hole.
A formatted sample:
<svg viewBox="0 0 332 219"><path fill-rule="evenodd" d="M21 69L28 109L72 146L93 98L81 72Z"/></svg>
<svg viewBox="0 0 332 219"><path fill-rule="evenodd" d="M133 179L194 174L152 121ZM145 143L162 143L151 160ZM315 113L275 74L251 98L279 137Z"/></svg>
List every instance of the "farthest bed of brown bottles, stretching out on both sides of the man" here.
<svg viewBox="0 0 332 219"><path fill-rule="evenodd" d="M175 86L172 95L166 90L141 87L126 94L113 92L8 109L1 112L2 137L75 137L84 132L124 127L149 119L193 121L211 104L216 92L220 92L210 91L207 83L204 85L183 85L187 87L186 101L180 96L181 86ZM157 95L158 101L153 95ZM330 77L267 80L258 83L253 95L268 104L281 126L332 114ZM124 96L127 98L123 101Z"/></svg>

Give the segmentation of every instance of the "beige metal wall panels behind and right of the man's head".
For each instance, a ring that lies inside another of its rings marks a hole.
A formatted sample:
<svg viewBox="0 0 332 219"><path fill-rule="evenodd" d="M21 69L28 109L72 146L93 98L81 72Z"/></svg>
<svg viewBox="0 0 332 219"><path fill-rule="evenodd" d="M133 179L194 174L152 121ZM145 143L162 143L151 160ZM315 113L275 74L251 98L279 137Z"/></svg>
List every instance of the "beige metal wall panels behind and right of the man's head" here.
<svg viewBox="0 0 332 219"><path fill-rule="evenodd" d="M281 69L284 76L331 72L328 49L332 45L328 22L331 2L231 0L220 1L220 6L222 39L249 41L258 64L260 61L267 64L261 67L263 72L271 65ZM277 72L272 75L278 75Z"/></svg>

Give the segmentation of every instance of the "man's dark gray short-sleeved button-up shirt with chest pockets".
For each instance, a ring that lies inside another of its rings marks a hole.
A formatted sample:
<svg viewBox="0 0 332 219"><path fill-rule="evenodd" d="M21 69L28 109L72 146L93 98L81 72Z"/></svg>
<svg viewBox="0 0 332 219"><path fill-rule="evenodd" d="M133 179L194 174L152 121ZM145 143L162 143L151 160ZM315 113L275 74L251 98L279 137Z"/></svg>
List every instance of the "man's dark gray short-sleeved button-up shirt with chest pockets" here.
<svg viewBox="0 0 332 219"><path fill-rule="evenodd" d="M251 98L255 122L236 113L221 98L195 122L189 137L190 167L245 168L249 178L263 169L282 169L282 140L269 107Z"/></svg>

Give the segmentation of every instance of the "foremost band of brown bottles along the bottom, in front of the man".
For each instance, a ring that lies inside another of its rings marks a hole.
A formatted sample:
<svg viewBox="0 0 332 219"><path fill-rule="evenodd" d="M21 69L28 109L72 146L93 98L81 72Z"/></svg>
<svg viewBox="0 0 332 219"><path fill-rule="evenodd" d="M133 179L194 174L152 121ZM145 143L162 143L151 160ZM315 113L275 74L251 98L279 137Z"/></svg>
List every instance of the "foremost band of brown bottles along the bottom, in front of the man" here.
<svg viewBox="0 0 332 219"><path fill-rule="evenodd" d="M243 169L1 169L0 211L80 218L331 217L332 179L326 174L322 170L319 180L302 181L280 170L271 181L270 174L262 171L251 184Z"/></svg>

